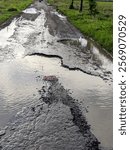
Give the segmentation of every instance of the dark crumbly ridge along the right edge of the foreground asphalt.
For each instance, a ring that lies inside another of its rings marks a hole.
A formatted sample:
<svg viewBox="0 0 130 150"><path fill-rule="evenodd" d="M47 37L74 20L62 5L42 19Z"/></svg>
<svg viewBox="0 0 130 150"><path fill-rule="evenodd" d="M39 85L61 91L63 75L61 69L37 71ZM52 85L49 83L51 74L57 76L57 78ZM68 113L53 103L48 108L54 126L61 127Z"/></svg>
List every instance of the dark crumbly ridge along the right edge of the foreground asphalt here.
<svg viewBox="0 0 130 150"><path fill-rule="evenodd" d="M79 103L69 96L67 90L65 90L64 87L58 82L58 79L51 81L51 86L48 90L46 90L43 86L40 94L40 100L48 105L62 102L64 105L68 106L70 108L71 115L73 116L73 123L79 128L79 132L86 139L85 150L100 150L100 142L91 133L90 125L87 123Z"/></svg>

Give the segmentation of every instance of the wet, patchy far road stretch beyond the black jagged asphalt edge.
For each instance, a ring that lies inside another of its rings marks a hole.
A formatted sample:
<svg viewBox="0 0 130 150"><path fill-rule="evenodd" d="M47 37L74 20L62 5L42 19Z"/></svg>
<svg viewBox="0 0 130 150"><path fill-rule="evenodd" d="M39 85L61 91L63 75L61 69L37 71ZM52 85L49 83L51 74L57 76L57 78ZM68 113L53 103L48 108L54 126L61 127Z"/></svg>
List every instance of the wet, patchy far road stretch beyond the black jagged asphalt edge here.
<svg viewBox="0 0 130 150"><path fill-rule="evenodd" d="M6 59L15 58L13 51L19 49L25 56L60 57L63 66L112 80L112 62L100 55L94 45L86 43L83 35L65 16L58 14L45 1L36 1L30 8L37 13L23 13L15 21L14 34L8 45L1 49L0 60L5 57L3 53L7 54Z"/></svg>

